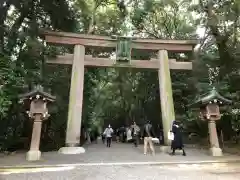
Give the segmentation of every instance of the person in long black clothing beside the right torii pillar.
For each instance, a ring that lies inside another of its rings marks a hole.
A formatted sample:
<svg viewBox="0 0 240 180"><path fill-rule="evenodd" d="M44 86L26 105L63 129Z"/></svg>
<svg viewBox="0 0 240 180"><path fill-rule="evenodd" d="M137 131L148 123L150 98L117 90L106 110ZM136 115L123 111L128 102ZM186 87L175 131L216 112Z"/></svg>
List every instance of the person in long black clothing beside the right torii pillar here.
<svg viewBox="0 0 240 180"><path fill-rule="evenodd" d="M171 155L175 155L175 150L180 149L183 151L183 156L186 156L180 125L177 121L173 121L172 133L174 134L174 139L172 140L172 144L171 144L171 149L172 149Z"/></svg>

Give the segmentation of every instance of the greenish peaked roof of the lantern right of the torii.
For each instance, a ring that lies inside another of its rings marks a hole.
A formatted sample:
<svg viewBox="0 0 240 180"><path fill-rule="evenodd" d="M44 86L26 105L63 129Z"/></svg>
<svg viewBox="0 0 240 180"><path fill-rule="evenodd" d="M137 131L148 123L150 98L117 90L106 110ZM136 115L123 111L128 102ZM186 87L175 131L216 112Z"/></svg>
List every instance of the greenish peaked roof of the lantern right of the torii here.
<svg viewBox="0 0 240 180"><path fill-rule="evenodd" d="M193 104L190 106L202 106L209 103L217 103L217 104L231 104L232 101L223 97L215 87L212 88L211 91L206 94L201 95Z"/></svg>

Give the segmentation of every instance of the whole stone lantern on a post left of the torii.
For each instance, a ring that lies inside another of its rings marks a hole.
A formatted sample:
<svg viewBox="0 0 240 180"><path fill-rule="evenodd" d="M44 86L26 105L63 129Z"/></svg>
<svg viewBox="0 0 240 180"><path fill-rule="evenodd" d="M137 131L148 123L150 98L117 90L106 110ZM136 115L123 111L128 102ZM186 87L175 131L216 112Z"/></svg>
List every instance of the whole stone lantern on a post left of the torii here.
<svg viewBox="0 0 240 180"><path fill-rule="evenodd" d="M33 91L19 96L20 101L28 105L27 114L33 120L33 130L30 150L27 152L28 161L37 161L41 158L39 150L42 122L50 116L47 104L53 102L56 97L43 91L42 86L36 86Z"/></svg>

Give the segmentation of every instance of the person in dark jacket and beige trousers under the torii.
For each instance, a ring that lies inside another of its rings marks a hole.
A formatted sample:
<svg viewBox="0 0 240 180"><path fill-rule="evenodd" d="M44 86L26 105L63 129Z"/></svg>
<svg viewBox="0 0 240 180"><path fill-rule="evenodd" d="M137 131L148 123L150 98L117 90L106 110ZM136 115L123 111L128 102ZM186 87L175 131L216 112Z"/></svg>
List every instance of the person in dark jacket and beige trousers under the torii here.
<svg viewBox="0 0 240 180"><path fill-rule="evenodd" d="M147 154L149 144L150 150L152 151L152 155L155 155L155 149L152 142L152 138L155 137L155 133L153 131L153 127L150 121L147 121L147 123L144 125L142 137L144 138L144 154Z"/></svg>

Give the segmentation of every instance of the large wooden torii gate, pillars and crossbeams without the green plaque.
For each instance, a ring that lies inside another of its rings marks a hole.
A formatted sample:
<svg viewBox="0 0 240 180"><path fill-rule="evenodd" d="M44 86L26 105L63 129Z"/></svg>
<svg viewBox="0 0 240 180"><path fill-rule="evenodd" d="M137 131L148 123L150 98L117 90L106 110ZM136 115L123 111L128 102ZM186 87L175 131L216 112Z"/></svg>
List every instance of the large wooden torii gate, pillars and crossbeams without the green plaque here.
<svg viewBox="0 0 240 180"><path fill-rule="evenodd" d="M110 58L85 55L85 47L116 47L119 41L111 37L51 31L45 31L44 35L47 43L74 46L74 54L65 54L54 60L47 60L47 63L51 64L72 65L66 147L59 150L61 153L77 154L85 152L79 145L85 66L156 69L159 77L164 142L166 146L170 145L168 132L171 129L172 121L175 119L170 69L192 70L192 62L177 62L175 59L168 59L168 51L191 52L197 44L196 40L134 39L131 41L132 49L158 51L157 59L131 60L127 63L118 63Z"/></svg>

